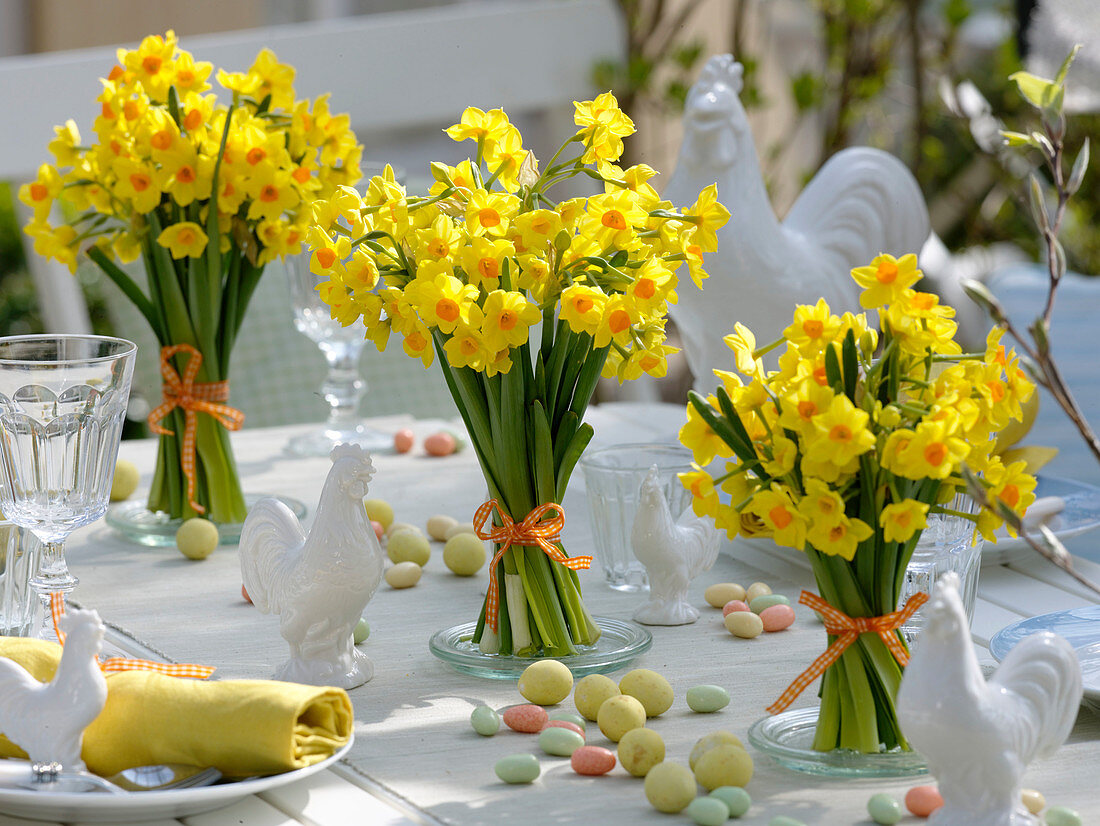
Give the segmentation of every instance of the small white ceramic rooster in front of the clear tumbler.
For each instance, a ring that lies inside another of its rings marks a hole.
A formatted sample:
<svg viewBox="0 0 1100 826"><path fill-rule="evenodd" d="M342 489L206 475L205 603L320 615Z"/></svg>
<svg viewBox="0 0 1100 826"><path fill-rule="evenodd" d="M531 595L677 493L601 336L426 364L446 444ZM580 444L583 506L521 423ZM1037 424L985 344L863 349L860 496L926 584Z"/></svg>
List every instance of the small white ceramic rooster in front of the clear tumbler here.
<svg viewBox="0 0 1100 826"><path fill-rule="evenodd" d="M688 508L673 521L654 464L638 492L630 544L649 575L649 602L635 612L644 625L688 625L698 610L688 602L692 580L718 558L722 535Z"/></svg>

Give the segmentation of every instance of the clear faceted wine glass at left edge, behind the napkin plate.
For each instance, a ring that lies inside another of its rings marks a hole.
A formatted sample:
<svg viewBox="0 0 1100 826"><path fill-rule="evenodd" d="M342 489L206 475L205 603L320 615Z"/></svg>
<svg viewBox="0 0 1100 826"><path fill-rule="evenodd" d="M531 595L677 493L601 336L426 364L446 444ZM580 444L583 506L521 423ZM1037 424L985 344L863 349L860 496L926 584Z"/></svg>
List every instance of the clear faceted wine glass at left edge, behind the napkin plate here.
<svg viewBox="0 0 1100 826"><path fill-rule="evenodd" d="M44 604L77 585L65 540L107 511L138 348L102 335L0 339L0 510L42 542Z"/></svg>

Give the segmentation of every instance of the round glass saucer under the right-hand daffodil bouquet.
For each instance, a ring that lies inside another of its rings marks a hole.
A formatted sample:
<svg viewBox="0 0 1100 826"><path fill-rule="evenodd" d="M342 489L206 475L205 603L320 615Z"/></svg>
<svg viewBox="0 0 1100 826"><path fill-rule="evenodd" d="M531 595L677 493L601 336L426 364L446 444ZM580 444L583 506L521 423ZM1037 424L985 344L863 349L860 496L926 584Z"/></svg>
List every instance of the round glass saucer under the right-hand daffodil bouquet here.
<svg viewBox="0 0 1100 826"><path fill-rule="evenodd" d="M816 708L794 708L765 717L749 728L749 742L784 769L837 779L908 778L926 774L928 767L915 751L866 755L849 749L816 751Z"/></svg>

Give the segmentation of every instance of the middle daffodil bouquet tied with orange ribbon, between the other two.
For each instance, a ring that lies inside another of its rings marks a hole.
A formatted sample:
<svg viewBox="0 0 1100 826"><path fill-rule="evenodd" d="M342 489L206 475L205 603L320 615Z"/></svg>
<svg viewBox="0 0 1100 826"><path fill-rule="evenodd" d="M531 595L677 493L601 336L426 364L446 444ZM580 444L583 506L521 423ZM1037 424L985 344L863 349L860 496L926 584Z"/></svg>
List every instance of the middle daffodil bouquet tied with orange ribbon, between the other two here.
<svg viewBox="0 0 1100 826"><path fill-rule="evenodd" d="M432 164L428 195L387 170L364 196L341 187L317 203L309 231L333 318L362 320L380 350L396 332L426 367L439 359L495 500L475 519L498 549L474 634L488 653L596 641L575 572L587 560L558 541L592 438L584 411L601 374L664 374L675 271L686 262L700 284L728 219L714 186L679 211L647 183L652 169L614 165L634 124L610 93L575 107L576 134L541 170L504 111L466 109L447 133L473 157ZM604 191L551 199L578 175Z"/></svg>

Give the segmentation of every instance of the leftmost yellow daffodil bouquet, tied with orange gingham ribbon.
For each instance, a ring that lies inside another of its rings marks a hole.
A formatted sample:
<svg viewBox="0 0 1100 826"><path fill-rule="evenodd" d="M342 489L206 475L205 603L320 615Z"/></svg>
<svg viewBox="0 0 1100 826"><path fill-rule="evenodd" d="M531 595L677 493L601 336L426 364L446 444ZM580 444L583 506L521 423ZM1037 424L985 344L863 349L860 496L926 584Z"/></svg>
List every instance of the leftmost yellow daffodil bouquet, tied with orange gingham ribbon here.
<svg viewBox="0 0 1100 826"><path fill-rule="evenodd" d="M244 73L217 73L173 32L145 37L103 79L90 143L68 121L54 164L20 190L35 250L75 271L81 251L148 321L161 343L164 404L148 507L244 520L226 428L230 353L264 266L297 254L310 205L360 178L362 146L327 96L296 100L294 68L263 49ZM61 201L67 222L50 222ZM147 290L118 262L144 264Z"/></svg>

